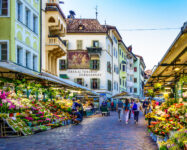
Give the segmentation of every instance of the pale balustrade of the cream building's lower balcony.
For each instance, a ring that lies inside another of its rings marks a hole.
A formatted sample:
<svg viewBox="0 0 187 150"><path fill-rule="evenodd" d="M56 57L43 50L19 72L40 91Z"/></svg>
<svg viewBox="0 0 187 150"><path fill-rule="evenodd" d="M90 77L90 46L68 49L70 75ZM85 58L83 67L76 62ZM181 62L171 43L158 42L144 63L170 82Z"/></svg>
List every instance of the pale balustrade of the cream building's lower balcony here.
<svg viewBox="0 0 187 150"><path fill-rule="evenodd" d="M64 45L63 41L58 36L57 37L49 37L47 45L48 46L58 46L65 53L67 52L67 47Z"/></svg>

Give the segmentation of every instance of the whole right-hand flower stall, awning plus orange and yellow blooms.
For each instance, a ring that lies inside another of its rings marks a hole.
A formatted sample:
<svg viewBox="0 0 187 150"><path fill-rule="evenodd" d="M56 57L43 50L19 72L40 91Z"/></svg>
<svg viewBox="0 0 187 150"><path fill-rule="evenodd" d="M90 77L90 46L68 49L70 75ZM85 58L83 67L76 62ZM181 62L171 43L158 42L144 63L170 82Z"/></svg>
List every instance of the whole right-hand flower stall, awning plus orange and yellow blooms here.
<svg viewBox="0 0 187 150"><path fill-rule="evenodd" d="M145 117L148 131L160 150L187 149L187 24L144 86L151 99L164 98Z"/></svg>

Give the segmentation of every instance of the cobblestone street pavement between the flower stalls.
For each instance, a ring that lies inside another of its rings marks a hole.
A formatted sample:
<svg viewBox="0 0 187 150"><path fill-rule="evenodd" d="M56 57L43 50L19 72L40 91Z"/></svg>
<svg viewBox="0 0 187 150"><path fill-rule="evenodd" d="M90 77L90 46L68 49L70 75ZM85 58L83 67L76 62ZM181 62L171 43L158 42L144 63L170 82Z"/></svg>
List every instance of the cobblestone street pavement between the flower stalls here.
<svg viewBox="0 0 187 150"><path fill-rule="evenodd" d="M144 117L138 125L126 125L110 117L86 118L80 125L69 125L27 137L0 139L0 150L156 150Z"/></svg>

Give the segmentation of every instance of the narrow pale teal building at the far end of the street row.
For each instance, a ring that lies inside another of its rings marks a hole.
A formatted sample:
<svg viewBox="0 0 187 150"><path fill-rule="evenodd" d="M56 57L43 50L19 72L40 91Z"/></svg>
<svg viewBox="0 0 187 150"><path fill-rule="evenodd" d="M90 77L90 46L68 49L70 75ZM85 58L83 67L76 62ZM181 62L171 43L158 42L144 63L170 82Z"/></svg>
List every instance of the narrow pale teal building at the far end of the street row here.
<svg viewBox="0 0 187 150"><path fill-rule="evenodd" d="M134 95L138 98L144 97L144 70L145 63L142 56L136 55L134 63Z"/></svg>

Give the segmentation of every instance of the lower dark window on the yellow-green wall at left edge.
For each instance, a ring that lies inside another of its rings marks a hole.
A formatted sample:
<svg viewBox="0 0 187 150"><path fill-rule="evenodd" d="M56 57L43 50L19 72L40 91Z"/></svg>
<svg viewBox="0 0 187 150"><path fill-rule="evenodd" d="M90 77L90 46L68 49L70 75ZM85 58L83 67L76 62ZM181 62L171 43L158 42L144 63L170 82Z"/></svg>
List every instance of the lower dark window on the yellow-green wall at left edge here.
<svg viewBox="0 0 187 150"><path fill-rule="evenodd" d="M1 61L8 60L8 44L7 44L7 42L0 43L0 60Z"/></svg>

